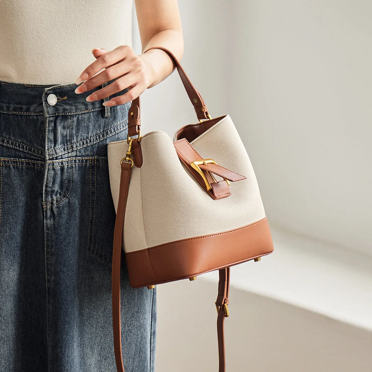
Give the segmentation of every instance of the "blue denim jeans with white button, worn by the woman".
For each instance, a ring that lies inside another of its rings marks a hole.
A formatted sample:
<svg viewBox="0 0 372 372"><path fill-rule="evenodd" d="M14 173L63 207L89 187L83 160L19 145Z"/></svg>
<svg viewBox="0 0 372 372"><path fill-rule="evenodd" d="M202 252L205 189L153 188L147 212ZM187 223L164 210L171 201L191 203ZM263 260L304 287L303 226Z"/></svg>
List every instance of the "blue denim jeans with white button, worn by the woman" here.
<svg viewBox="0 0 372 372"><path fill-rule="evenodd" d="M116 371L107 144L131 102L76 87L0 81L0 371ZM125 372L153 372L156 288L131 288L124 254L121 322Z"/></svg>

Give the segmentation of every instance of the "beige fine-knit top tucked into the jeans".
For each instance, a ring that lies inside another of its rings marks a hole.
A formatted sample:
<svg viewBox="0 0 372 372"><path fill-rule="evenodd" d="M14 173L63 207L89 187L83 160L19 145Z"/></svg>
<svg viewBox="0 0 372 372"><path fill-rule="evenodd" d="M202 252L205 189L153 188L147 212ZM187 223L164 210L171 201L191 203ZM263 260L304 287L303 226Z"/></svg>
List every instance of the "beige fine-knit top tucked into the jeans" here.
<svg viewBox="0 0 372 372"><path fill-rule="evenodd" d="M68 84L93 48L132 47L133 0L0 0L0 80Z"/></svg>

